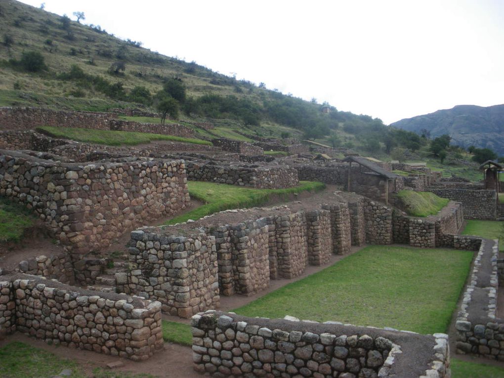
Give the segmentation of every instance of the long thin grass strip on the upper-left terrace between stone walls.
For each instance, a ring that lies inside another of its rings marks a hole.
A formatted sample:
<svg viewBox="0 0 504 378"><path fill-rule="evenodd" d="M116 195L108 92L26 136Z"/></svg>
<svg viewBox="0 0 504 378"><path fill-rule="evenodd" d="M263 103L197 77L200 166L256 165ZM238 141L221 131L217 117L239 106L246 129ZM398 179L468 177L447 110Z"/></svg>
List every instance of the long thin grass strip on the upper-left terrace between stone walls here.
<svg viewBox="0 0 504 378"><path fill-rule="evenodd" d="M44 126L36 129L54 138L72 139L79 142L96 143L107 146L135 146L152 141L170 141L211 146L212 143L200 139L174 137L172 135L137 133L129 131L59 128Z"/></svg>

